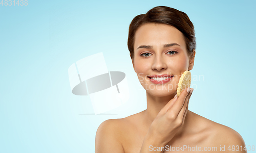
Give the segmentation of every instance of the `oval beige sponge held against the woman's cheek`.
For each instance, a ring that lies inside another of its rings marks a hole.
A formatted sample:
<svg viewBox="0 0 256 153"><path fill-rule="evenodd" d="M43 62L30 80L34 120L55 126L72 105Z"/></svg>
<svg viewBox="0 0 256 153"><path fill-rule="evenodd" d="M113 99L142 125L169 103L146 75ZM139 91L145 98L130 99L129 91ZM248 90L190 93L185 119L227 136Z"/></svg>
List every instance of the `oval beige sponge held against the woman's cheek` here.
<svg viewBox="0 0 256 153"><path fill-rule="evenodd" d="M181 92L186 89L187 87L190 87L191 83L191 73L190 71L184 71L180 77L180 81L178 83L178 89L177 89L177 96L179 97Z"/></svg>

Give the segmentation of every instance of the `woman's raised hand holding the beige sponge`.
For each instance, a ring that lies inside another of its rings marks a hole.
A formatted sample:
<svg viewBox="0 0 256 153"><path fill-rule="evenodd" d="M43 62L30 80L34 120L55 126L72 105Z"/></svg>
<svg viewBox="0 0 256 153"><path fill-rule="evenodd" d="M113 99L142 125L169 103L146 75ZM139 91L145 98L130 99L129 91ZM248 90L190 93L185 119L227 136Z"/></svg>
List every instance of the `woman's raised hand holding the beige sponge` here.
<svg viewBox="0 0 256 153"><path fill-rule="evenodd" d="M193 92L193 88L186 88L180 96L171 99L158 113L152 122L148 135L150 138L159 141L159 144L166 145L173 139L181 125L184 123L189 98Z"/></svg>

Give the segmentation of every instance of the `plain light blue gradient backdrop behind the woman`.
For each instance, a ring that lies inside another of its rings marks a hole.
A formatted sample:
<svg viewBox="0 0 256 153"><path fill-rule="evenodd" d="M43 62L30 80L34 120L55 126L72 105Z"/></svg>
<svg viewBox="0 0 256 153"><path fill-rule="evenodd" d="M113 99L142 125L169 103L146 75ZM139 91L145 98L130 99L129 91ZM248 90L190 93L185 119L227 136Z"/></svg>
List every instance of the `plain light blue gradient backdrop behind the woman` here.
<svg viewBox="0 0 256 153"><path fill-rule="evenodd" d="M0 152L94 152L100 123L145 110L127 35L156 6L185 12L195 26L189 110L256 145L255 1L28 1L0 6ZM93 115L90 97L72 94L68 68L99 52L109 71L126 74L130 99Z"/></svg>

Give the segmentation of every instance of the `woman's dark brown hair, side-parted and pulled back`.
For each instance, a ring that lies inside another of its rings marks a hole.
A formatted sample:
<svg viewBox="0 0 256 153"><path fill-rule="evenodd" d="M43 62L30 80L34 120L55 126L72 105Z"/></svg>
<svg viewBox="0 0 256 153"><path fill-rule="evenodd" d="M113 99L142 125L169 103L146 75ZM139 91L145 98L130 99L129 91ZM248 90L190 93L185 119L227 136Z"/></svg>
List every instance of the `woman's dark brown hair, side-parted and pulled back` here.
<svg viewBox="0 0 256 153"><path fill-rule="evenodd" d="M187 14L174 8L158 6L149 10L146 14L135 16L130 24L127 45L132 59L134 58L135 33L145 23L162 23L178 29L184 35L189 57L194 57L192 53L193 49L196 49L195 30Z"/></svg>

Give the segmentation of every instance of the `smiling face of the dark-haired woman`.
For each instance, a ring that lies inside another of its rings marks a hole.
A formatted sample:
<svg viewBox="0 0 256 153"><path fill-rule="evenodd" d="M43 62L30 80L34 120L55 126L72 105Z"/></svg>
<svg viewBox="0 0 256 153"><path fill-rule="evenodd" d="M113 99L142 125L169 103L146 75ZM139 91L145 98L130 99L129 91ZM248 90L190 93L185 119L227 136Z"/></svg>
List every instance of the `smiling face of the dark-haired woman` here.
<svg viewBox="0 0 256 153"><path fill-rule="evenodd" d="M194 59L189 61L184 36L178 29L166 24L146 23L137 30L133 67L141 85L150 94L176 94L182 73L191 70L193 65ZM161 74L173 77L160 84L148 78Z"/></svg>

